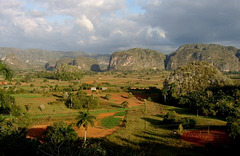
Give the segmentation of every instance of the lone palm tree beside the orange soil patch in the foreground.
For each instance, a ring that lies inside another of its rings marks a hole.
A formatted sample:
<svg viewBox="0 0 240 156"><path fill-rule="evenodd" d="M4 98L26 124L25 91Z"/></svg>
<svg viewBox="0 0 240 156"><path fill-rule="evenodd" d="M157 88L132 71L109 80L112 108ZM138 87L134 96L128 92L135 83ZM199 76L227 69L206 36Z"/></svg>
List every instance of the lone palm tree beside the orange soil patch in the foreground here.
<svg viewBox="0 0 240 156"><path fill-rule="evenodd" d="M84 142L87 140L87 128L89 123L91 126L94 126L93 119L96 119L95 116L92 116L89 112L79 112L79 115L76 118L77 121L77 127L80 128L81 126L84 127L85 133L84 133Z"/></svg>

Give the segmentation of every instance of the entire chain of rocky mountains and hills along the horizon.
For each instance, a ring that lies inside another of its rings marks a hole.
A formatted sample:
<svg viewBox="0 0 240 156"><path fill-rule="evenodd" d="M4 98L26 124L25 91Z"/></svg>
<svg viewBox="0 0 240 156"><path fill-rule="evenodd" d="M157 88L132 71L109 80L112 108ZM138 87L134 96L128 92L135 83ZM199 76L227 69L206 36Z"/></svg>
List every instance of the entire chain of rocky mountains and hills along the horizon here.
<svg viewBox="0 0 240 156"><path fill-rule="evenodd" d="M186 44L165 55L151 49L132 48L109 54L85 52L47 51L41 49L21 50L0 48L0 59L13 69L56 69L69 64L82 70L175 70L186 63L205 61L220 71L240 71L240 49L219 44Z"/></svg>

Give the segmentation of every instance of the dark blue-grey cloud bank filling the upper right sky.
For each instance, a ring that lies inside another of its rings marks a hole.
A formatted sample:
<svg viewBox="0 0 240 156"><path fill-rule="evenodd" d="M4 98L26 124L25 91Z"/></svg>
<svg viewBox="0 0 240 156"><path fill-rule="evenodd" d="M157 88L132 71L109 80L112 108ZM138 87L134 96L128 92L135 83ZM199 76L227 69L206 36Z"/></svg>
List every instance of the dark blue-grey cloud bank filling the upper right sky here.
<svg viewBox="0 0 240 156"><path fill-rule="evenodd" d="M238 0L161 1L145 5L147 13L139 22L161 27L176 44L239 41L238 6Z"/></svg>

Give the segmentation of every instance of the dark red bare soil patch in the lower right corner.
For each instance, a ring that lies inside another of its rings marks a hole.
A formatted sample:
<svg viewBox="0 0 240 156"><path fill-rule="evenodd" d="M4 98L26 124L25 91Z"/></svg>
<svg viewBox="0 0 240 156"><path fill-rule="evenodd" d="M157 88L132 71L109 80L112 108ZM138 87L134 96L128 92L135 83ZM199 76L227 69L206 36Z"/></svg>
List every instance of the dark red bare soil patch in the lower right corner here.
<svg viewBox="0 0 240 156"><path fill-rule="evenodd" d="M230 142L227 132L221 130L210 130L209 133L207 130L186 131L181 139L197 146L204 146L206 143L218 146Z"/></svg>

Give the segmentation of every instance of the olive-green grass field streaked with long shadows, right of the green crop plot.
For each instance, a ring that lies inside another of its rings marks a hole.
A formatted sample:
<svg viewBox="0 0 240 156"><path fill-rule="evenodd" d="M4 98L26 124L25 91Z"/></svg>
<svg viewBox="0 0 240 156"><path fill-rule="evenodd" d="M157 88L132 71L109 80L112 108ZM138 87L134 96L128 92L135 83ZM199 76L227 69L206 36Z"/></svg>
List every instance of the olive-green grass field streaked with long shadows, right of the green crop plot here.
<svg viewBox="0 0 240 156"><path fill-rule="evenodd" d="M188 110L184 108L153 102L148 102L147 109L147 113L144 113L144 106L130 109L126 116L125 126L106 139L117 145L142 150L143 153L144 150L147 150L158 155L206 155L209 149L198 151L198 148L192 144L181 140L177 134L177 129L169 128L168 125L162 123L163 116L167 111L178 109L181 112L177 114L178 116L197 119L196 127L207 129L206 123L211 125L210 127L222 127L226 124L221 119L196 117L194 114L189 114ZM187 112L187 115L184 112Z"/></svg>

